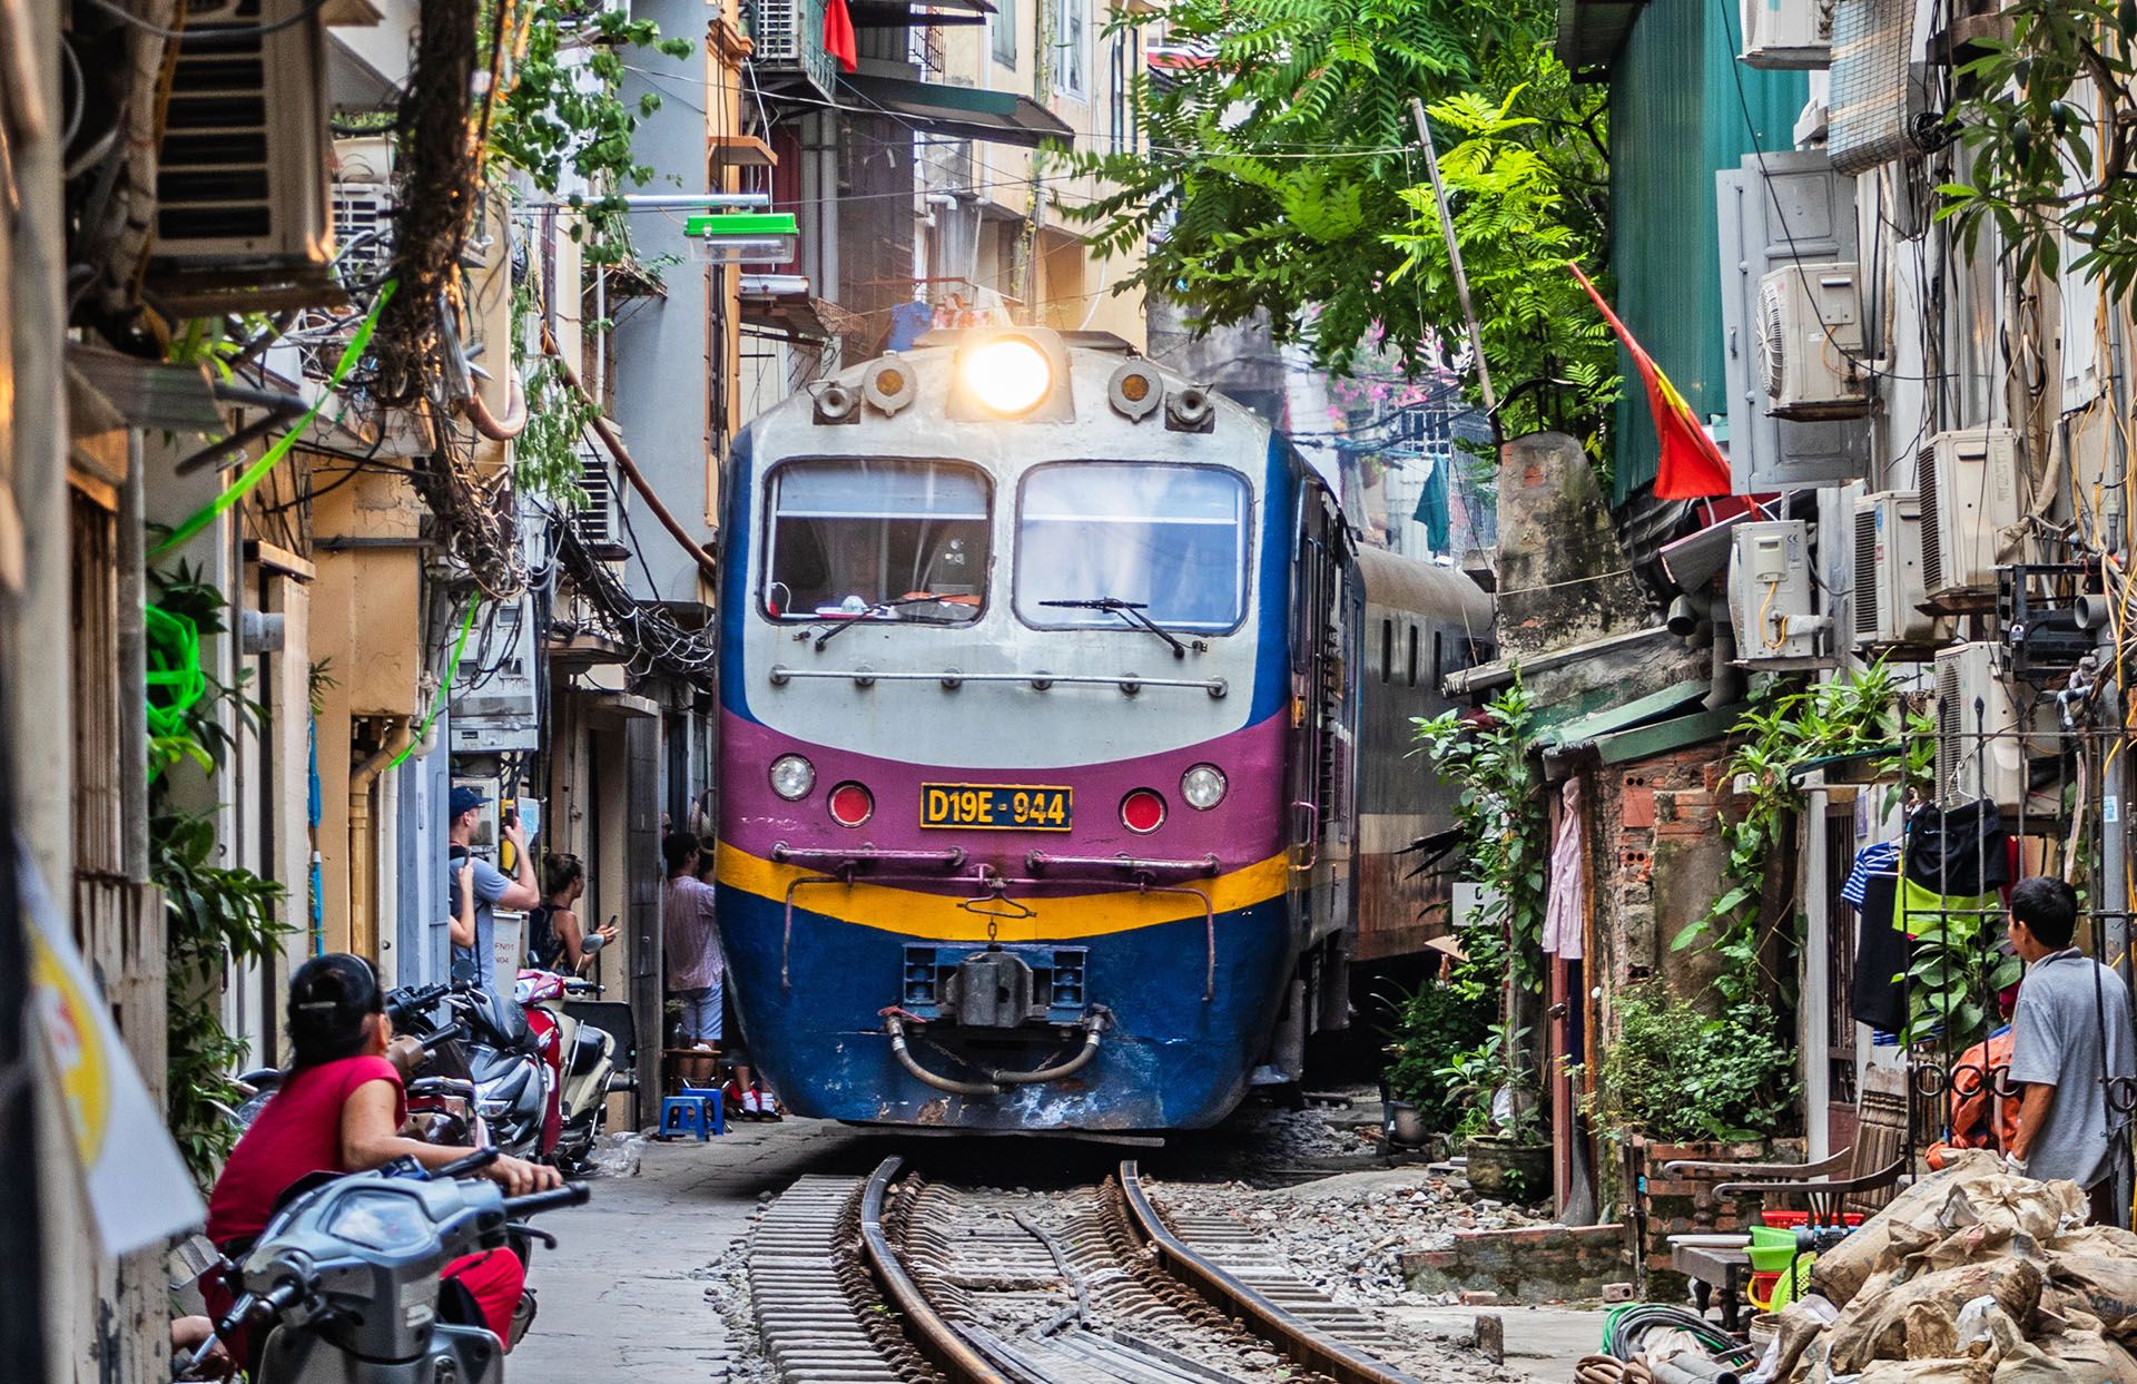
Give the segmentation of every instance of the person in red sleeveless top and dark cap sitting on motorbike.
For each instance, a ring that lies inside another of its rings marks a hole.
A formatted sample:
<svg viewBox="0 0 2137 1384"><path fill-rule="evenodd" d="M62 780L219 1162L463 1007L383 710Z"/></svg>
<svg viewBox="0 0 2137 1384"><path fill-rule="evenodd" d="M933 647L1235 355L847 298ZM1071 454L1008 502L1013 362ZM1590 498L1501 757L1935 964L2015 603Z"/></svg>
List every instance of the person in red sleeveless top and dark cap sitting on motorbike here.
<svg viewBox="0 0 2137 1384"><path fill-rule="evenodd" d="M207 1239L222 1254L250 1245L274 1219L276 1200L314 1172L365 1172L395 1157L442 1168L474 1153L402 1138L408 1108L400 1070L385 1059L393 1037L385 993L359 956L314 956L288 982L288 1076L231 1151L207 1200ZM498 1157L483 1177L506 1196L558 1187L556 1168ZM444 1268L481 1307L483 1324L506 1345L526 1266L509 1249L453 1260ZM224 1303L214 1305L220 1311Z"/></svg>

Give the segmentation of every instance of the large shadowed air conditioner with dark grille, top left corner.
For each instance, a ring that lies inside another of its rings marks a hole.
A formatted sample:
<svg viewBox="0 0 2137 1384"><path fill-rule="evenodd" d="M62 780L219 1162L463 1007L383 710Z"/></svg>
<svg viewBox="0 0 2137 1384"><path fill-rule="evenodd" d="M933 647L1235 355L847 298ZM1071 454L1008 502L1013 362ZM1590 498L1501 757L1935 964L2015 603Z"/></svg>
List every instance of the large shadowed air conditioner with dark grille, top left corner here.
<svg viewBox="0 0 2137 1384"><path fill-rule="evenodd" d="M318 6L235 0L173 47L152 276L278 306L336 302Z"/></svg>

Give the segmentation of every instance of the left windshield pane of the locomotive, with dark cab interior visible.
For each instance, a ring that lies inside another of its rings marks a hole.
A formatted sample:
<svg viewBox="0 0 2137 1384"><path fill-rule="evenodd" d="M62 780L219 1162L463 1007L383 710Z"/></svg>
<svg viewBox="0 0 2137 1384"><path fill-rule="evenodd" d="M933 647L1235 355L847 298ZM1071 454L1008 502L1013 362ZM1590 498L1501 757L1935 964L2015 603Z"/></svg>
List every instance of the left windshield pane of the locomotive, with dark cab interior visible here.
<svg viewBox="0 0 2137 1384"><path fill-rule="evenodd" d="M987 593L987 477L960 462L838 458L771 473L765 614L962 625Z"/></svg>

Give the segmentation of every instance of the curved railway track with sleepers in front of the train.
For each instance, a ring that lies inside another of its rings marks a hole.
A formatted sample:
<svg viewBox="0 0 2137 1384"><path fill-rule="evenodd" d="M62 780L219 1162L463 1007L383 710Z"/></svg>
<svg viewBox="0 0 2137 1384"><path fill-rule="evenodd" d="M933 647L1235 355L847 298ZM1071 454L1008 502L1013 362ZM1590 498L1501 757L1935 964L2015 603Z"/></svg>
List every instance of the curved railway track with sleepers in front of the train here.
<svg viewBox="0 0 2137 1384"><path fill-rule="evenodd" d="M930 1183L895 1157L806 1177L759 1224L748 1279L789 1384L1419 1384L1252 1230L1167 1224L1133 1162L1056 1194Z"/></svg>

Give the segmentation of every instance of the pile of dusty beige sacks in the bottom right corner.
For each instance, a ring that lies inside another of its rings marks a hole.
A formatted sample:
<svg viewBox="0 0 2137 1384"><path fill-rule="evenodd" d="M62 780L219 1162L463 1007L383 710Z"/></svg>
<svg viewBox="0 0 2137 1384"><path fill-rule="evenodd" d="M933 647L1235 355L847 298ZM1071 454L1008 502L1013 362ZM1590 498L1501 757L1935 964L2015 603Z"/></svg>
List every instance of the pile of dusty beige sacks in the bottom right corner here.
<svg viewBox="0 0 2137 1384"><path fill-rule="evenodd" d="M1810 1271L1769 1384L2137 1384L2137 1234L2075 1183L1957 1153Z"/></svg>

